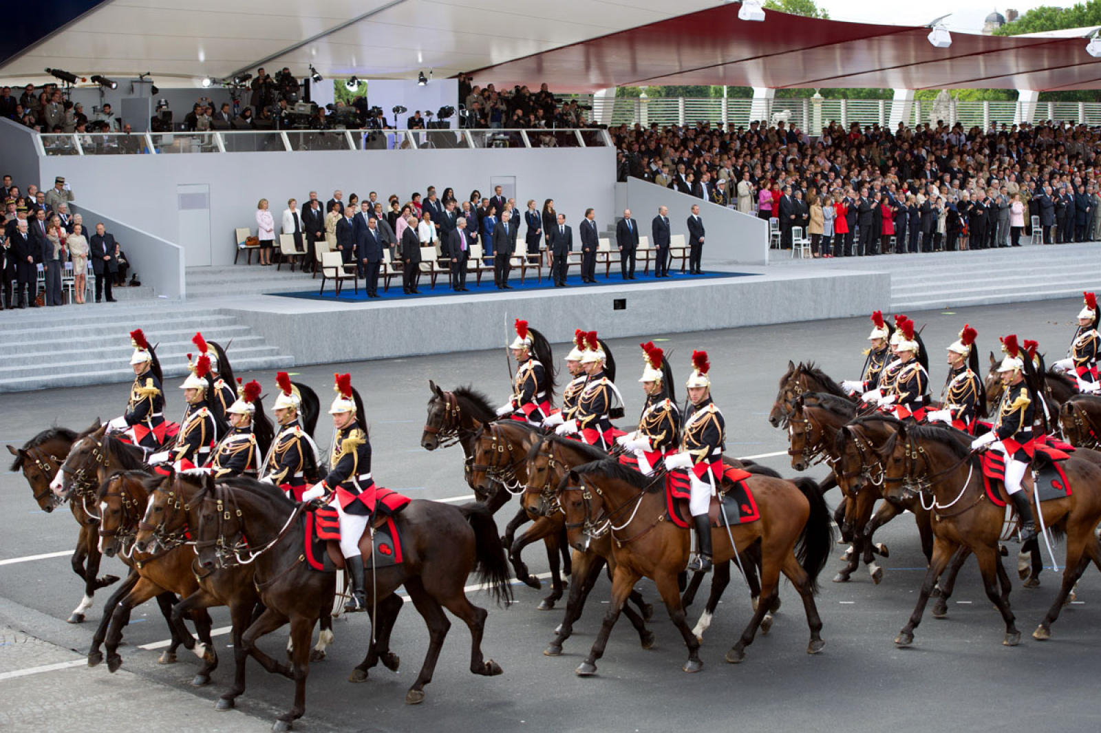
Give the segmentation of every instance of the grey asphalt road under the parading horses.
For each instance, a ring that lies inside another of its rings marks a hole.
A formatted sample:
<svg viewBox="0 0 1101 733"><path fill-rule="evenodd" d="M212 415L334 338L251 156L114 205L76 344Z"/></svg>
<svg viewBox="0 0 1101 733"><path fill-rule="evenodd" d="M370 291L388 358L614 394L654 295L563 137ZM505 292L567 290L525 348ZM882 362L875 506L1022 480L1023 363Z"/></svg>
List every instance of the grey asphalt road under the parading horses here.
<svg viewBox="0 0 1101 733"><path fill-rule="evenodd" d="M955 339L964 321L979 329L984 362L985 352L995 347L998 336L1004 332L1037 338L1048 354L1061 355L1079 307L1077 300L1058 300L968 308L956 314L908 315L927 326L925 340L935 364L931 379L940 384L946 373L944 347ZM799 304L792 305L793 315L799 310ZM606 336L614 333L613 318L610 314ZM855 378L869 327L863 318L806 321L665 335L662 338L667 340L661 346L674 352L682 398L680 385L691 350L709 351L716 402L727 416L729 452L751 456L786 448L784 435L768 426L765 415L787 360L813 359L838 379ZM415 338L428 338L427 333L430 328ZM634 381L641 368L637 340L612 339L611 346L620 364L619 385L629 401L628 412L637 414L642 402ZM559 358L565 353L560 346L557 351ZM119 359L127 355L120 353ZM427 381L435 379L445 386L475 383L486 387L494 403L499 403L508 393L502 362L501 352L493 351L340 365L340 371L352 373L355 384L367 400L375 456L373 469L383 485L424 499L466 493L457 448L428 453L418 447L428 398ZM333 371L331 366L303 369L297 379L314 384L325 395ZM249 376L257 376L268 389L273 385L273 374ZM182 408L175 387L174 382L168 385L170 414ZM113 417L124 401L126 390L119 385L3 395L0 414L4 416L4 427L0 428L0 444L22 442L53 422L78 428L97 415L105 419ZM319 433L319 442L327 445L330 428ZM763 462L792 472L786 457ZM819 471L811 475L821 474ZM831 493L829 500L836 502L837 493ZM6 510L0 515L0 537L3 537L0 562L72 547L75 527L68 513L37 512L20 477L0 474L0 502ZM511 514L511 506L499 513L502 526ZM1006 648L1001 645L1000 617L985 600L972 564L957 586L949 620L927 616L917 631L915 647L897 649L892 639L913 609L924 558L908 515L885 527L877 538L891 549L890 559L883 561L886 576L882 584L873 586L863 570L849 583L831 583L835 560L824 572L818 606L825 622L826 649L815 657L805 653L807 627L802 606L785 584L781 591L784 608L772 633L757 637L742 665L724 664L722 654L749 617L744 584L735 581L705 638L701 654L706 666L701 674L680 671L686 656L683 643L658 610L653 623L657 635L654 648L640 649L635 634L623 623L612 634L599 665L599 676L580 679L573 670L599 626L606 608L601 601L607 598L607 582L602 581L593 592L575 637L567 642L566 655L560 658L542 655L560 612L536 611L542 594L519 587L517 602L511 608L491 608L483 644L486 654L501 664L504 675L487 679L467 671L469 635L456 622L435 680L427 688L427 699L417 708L403 704L404 692L415 677L427 642L424 624L412 605L404 610L394 632L393 647L402 656L401 671L393 674L379 668L366 685L355 686L346 678L366 652L367 619L358 615L339 620L336 646L330 648L329 658L310 668L307 712L297 729L407 731L430 726L430 730L516 731L538 726L610 733L665 731L672 725L688 730L722 725L869 732L926 731L930 725L984 731L995 724L1009 730L1038 725L1051 730L1101 729L1101 711L1093 703L1093 679L1101 650L1095 611L1101 604L1101 582L1097 572L1088 571L1079 587L1080 603L1064 612L1053 639L1047 643L1034 642L1028 634L1053 599L1056 577L1045 572L1038 590L1022 590L1015 582L1012 603L1025 641L1016 648ZM546 571L542 548L530 548L525 557L534 572ZM122 575L120 569L117 561L105 560L103 571ZM648 581L640 583L640 589L647 600L656 600ZM64 623L79 595L80 586L65 557L0 565L0 623L83 653L91 627ZM97 595L88 623L99 620L102 600ZM475 594L473 600L490 605L481 594ZM699 608L694 611L693 620ZM227 624L227 615L216 612L215 625ZM181 699L204 700L212 705L228 682L231 655L225 648L227 637L218 639L222 668L203 690L187 686L196 669L196 661L189 655L181 655L175 666L162 667L156 665L154 652L140 648L166 637L155 608L137 609L127 631L124 669L139 678L170 686ZM274 653L283 645L283 638L282 633L273 635L265 648ZM44 690L50 689L51 694L56 694L59 683L85 691L88 689L85 686L95 685L96 690L116 689L121 693L115 698L119 721L132 724L143 714L139 696L129 692L122 676L112 687L116 678L110 678L103 667L69 669L64 674L63 682L43 679L40 687L24 683L13 691L46 694ZM252 718L246 719L247 724L233 727L235 731L265 730L273 714L290 704L290 681L272 678L252 663L249 675L249 691L239 700L239 710ZM7 693L9 686L0 679L0 690ZM163 699L151 698L150 704L160 704ZM97 714L101 714L99 710ZM68 720L66 714L57 711L55 726L57 721ZM41 730L41 725L48 727L50 720L46 710L34 721L34 730ZM100 716L89 720L85 730L108 730L118 724ZM29 724L14 727L31 730Z"/></svg>

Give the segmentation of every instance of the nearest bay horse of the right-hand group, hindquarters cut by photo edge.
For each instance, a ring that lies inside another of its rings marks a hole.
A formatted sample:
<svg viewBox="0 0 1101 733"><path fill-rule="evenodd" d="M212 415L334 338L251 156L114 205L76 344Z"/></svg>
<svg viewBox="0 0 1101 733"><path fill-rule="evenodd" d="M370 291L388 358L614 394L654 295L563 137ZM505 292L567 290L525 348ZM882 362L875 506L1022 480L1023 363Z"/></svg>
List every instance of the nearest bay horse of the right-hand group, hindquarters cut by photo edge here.
<svg viewBox="0 0 1101 733"><path fill-rule="evenodd" d="M929 593L938 576L959 547L970 549L979 561L986 597L998 606L1005 621L1003 644L1015 646L1021 641L1015 619L1010 611L1010 581L1002 567L998 549L1004 521L1004 507L988 500L982 468L970 450L971 436L947 427L902 425L881 450L885 464L884 480L892 494L913 493L923 501L931 496L933 530L936 537L934 557L929 564L917 606L895 643L908 646L914 628L920 623ZM946 468L947 464L947 468ZM1069 496L1038 503L1026 474L1023 489L1029 492L1033 512L1042 527L1066 535L1067 551L1062 584L1055 602L1033 633L1036 639L1050 637L1051 623L1069 597L1075 583L1092 560L1101 569L1101 541L1094 529L1101 522L1101 468L1073 455L1062 463L1064 472L1073 486ZM961 486L957 489L957 486ZM998 592L996 583L1002 592Z"/></svg>

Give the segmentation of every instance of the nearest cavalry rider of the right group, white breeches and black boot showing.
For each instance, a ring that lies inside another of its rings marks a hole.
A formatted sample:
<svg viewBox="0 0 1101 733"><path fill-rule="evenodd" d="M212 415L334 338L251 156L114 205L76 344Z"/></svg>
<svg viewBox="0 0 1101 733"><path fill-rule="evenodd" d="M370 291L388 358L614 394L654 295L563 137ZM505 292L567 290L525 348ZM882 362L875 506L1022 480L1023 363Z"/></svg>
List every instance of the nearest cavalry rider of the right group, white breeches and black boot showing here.
<svg viewBox="0 0 1101 733"><path fill-rule="evenodd" d="M1028 495L1022 491L1021 480L1028 470L1036 444L1033 420L1037 397L1024 378L1025 363L1017 347L1017 337L1010 335L1003 338L1002 351L1005 352L1005 359L998 372L1005 390L998 405L998 417L990 433L971 442L971 450L989 446L1005 456L1005 491L1021 517L1022 541L1027 543L1036 537L1036 521L1028 504Z"/></svg>

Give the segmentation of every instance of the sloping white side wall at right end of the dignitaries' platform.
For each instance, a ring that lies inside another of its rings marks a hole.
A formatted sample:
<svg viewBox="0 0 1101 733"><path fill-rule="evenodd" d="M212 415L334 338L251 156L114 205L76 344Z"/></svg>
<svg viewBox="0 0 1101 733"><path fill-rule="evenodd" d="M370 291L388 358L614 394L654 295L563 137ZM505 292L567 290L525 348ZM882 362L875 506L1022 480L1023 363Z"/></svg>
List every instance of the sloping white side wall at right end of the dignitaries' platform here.
<svg viewBox="0 0 1101 733"><path fill-rule="evenodd" d="M641 178L628 178L626 207L639 221L648 222L657 216L657 207L669 208L669 228L674 234L688 234L688 217L694 204L707 231L704 238L702 267L721 270L726 264L768 264L768 222L695 196L662 188ZM622 210L617 212L622 216Z"/></svg>

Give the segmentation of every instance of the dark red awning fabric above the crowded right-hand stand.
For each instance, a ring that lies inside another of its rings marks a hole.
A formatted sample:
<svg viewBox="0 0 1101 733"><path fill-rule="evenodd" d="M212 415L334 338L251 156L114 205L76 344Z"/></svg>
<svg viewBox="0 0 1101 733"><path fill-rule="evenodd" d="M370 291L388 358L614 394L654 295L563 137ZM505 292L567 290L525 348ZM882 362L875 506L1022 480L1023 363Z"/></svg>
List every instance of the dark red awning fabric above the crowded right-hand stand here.
<svg viewBox="0 0 1101 733"><path fill-rule="evenodd" d="M555 89L617 86L880 87L894 89L1101 88L1101 58L1084 39L953 32L936 48L924 26L872 25L765 11L739 3L612 33L478 69L498 88L547 81Z"/></svg>

